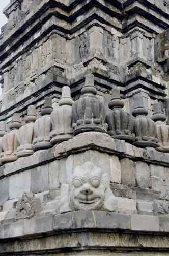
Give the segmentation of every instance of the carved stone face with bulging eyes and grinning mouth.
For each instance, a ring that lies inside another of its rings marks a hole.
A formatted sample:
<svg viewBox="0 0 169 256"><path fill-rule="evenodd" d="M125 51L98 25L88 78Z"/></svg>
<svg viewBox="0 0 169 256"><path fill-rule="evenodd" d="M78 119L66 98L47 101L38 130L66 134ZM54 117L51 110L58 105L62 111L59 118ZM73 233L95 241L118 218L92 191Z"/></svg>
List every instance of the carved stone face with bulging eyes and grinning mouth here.
<svg viewBox="0 0 169 256"><path fill-rule="evenodd" d="M101 169L91 162L77 166L71 185L74 210L97 210L105 200L106 180Z"/></svg>

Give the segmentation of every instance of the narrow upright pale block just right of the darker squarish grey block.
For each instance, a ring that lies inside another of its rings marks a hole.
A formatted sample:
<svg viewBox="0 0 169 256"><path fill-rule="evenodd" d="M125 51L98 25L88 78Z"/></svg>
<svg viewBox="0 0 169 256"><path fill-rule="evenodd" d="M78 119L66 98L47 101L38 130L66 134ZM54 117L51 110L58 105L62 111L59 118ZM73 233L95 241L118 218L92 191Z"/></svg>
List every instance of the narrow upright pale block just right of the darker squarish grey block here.
<svg viewBox="0 0 169 256"><path fill-rule="evenodd" d="M49 168L49 189L60 187L58 161L48 164Z"/></svg>

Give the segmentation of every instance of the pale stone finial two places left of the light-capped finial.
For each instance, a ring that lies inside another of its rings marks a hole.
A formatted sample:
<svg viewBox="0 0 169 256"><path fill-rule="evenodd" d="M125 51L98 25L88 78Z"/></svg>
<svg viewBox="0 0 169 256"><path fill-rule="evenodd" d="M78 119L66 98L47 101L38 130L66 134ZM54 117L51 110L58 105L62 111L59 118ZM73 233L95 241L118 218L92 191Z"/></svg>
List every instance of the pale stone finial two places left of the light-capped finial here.
<svg viewBox="0 0 169 256"><path fill-rule="evenodd" d="M25 157L32 155L33 152L33 123L36 121L36 108L30 105L27 109L27 116L25 117L26 124L20 127L17 133L19 147L17 148L17 157Z"/></svg>

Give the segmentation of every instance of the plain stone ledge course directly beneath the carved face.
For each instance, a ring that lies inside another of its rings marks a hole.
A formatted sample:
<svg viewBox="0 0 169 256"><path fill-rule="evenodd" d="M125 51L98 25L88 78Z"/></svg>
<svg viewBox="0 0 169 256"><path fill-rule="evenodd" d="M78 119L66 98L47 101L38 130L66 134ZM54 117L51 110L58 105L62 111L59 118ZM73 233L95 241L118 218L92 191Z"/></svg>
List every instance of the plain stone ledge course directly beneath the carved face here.
<svg viewBox="0 0 169 256"><path fill-rule="evenodd" d="M163 237L163 239L168 238L169 229L168 225L166 225L168 220L168 217L160 216L116 214L114 212L103 211L75 211L67 214L39 216L32 219L22 219L10 224L2 224L0 230L0 239L3 241L3 239L7 238L24 238L26 236L39 237L39 235L41 236L42 233L53 234L53 232L55 232L61 234L67 233L68 231L70 233L74 231L90 231L92 233L93 231L96 232L97 230L103 233L110 232L111 235L114 236L114 233L119 230L123 233L132 233L133 236L137 236L138 232L139 236L145 234L143 235L143 237L145 237L145 247L151 245L153 248L161 247L168 248L169 250L168 242L166 244L165 241L162 242L159 240L157 244L154 243L153 245L149 241L149 237L154 237L153 241L155 241L156 236L154 235L158 235L160 232L160 236ZM5 230L7 232L4 232ZM151 234L153 236L151 236ZM94 234L92 234L92 236L93 235ZM118 236L120 236L120 234L118 234ZM132 241L133 240L130 242L132 243ZM105 241L105 243L108 245L109 241ZM127 247L130 247L129 244ZM109 243L109 246L113 245ZM136 247L138 247L137 243ZM0 253L2 253L2 250L0 250Z"/></svg>

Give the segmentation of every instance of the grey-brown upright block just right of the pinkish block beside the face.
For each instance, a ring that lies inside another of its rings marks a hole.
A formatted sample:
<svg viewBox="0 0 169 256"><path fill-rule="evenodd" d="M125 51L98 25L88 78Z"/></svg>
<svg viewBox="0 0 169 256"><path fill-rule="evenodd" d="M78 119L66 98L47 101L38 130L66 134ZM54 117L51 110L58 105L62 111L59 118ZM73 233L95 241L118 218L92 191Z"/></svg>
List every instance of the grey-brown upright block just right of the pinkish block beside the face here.
<svg viewBox="0 0 169 256"><path fill-rule="evenodd" d="M121 163L122 184L135 186L135 163L129 158L123 158Z"/></svg>

